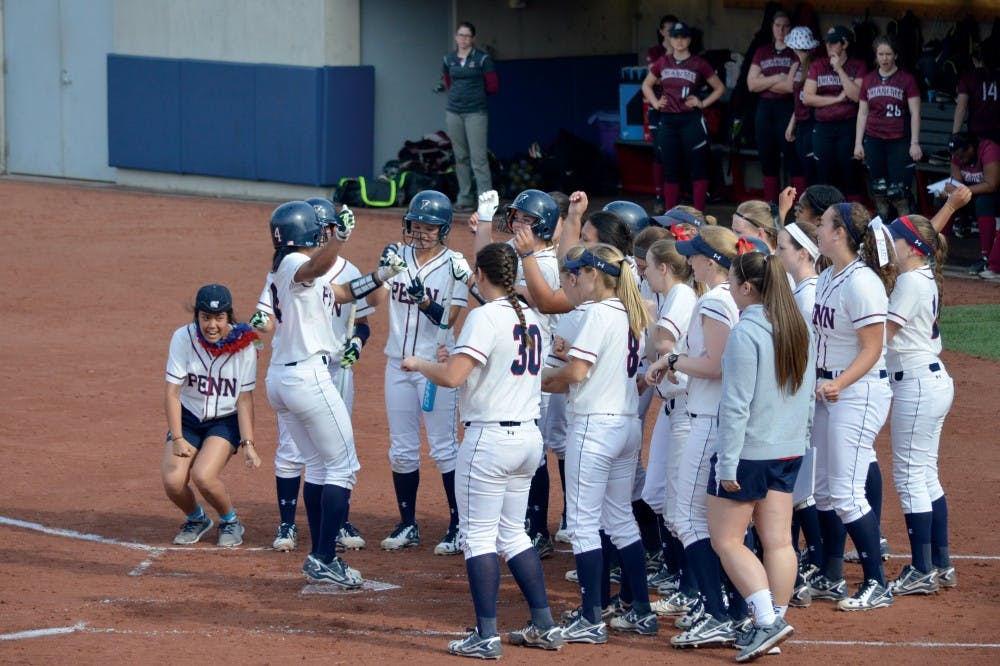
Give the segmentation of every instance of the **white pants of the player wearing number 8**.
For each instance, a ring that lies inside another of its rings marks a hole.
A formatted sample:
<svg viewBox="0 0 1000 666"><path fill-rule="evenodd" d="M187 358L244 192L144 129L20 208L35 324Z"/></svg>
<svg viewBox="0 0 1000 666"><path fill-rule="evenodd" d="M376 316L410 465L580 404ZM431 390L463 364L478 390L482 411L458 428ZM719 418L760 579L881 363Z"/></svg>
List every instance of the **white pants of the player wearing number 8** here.
<svg viewBox="0 0 1000 666"><path fill-rule="evenodd" d="M601 529L620 548L639 538L632 481L641 444L635 415L574 415L566 438L566 527L574 554L600 548Z"/></svg>

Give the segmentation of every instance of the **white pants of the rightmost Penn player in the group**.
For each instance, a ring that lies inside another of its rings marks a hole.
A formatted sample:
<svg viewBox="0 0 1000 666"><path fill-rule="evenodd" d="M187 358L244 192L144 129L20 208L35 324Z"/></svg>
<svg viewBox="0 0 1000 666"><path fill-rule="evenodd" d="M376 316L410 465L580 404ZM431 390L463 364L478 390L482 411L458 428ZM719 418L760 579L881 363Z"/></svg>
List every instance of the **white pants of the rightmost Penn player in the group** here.
<svg viewBox="0 0 1000 666"><path fill-rule="evenodd" d="M941 428L955 397L955 386L944 367L903 372L893 381L892 480L903 513L929 513L931 502L944 495L938 480Z"/></svg>

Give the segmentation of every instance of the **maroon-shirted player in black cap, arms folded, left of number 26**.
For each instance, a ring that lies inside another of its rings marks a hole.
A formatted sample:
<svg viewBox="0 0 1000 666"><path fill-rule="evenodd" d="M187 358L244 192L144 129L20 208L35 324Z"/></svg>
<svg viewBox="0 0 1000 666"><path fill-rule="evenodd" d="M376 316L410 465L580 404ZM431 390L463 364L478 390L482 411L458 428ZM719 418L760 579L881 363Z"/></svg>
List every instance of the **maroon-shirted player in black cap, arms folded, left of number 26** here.
<svg viewBox="0 0 1000 666"><path fill-rule="evenodd" d="M860 60L848 59L851 39L844 26L826 33L827 56L809 68L802 101L815 110L813 153L819 182L839 185L849 200L857 201L861 186L854 161L854 128L867 68Z"/></svg>

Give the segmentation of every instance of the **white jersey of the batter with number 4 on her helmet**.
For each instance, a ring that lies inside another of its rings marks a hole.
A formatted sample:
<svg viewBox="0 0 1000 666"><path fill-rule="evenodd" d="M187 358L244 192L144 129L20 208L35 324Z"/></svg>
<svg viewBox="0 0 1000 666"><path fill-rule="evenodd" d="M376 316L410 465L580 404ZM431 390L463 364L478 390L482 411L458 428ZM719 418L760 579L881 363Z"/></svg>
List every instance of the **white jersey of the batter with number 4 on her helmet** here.
<svg viewBox="0 0 1000 666"><path fill-rule="evenodd" d="M289 254L271 274L271 307L274 337L271 365L298 363L316 354L339 352L343 343L333 332L333 289L330 282L316 279L296 282L295 273L309 257Z"/></svg>

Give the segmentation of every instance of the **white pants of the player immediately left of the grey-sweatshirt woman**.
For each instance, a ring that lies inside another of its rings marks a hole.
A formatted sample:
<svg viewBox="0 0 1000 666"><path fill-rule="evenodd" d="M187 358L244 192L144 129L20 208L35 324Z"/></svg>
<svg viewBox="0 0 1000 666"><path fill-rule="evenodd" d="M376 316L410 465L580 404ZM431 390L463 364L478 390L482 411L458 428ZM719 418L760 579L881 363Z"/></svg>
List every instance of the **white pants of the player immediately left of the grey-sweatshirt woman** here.
<svg viewBox="0 0 1000 666"><path fill-rule="evenodd" d="M707 414L690 415L690 431L681 447L677 466L676 509L671 514L677 525L677 538L684 547L708 539L708 473L719 419ZM669 511L669 508L668 508Z"/></svg>

